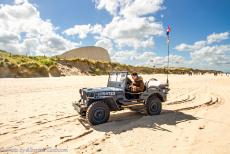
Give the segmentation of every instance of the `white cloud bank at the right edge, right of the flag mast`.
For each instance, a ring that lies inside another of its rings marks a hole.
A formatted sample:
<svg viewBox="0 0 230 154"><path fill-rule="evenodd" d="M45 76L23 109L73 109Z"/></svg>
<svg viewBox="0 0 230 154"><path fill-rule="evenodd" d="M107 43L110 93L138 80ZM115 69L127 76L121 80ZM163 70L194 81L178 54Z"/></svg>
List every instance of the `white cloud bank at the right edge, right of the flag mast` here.
<svg viewBox="0 0 230 154"><path fill-rule="evenodd" d="M229 32L211 34L206 40L197 41L192 45L182 43L175 47L178 51L188 51L191 56L190 64L200 68L226 69L230 65L230 45L220 45L229 38Z"/></svg>

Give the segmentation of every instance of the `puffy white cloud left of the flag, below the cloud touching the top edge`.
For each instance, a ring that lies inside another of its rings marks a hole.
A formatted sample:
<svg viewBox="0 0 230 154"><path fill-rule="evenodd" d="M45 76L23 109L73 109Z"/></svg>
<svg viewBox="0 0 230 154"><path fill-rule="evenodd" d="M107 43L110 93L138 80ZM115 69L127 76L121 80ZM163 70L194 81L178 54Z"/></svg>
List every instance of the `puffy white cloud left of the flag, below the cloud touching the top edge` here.
<svg viewBox="0 0 230 154"><path fill-rule="evenodd" d="M128 46L135 49L143 47L143 44L144 46L154 45L153 36L162 34L162 24L155 22L152 17L114 17L102 32L103 37L114 40L119 47Z"/></svg>

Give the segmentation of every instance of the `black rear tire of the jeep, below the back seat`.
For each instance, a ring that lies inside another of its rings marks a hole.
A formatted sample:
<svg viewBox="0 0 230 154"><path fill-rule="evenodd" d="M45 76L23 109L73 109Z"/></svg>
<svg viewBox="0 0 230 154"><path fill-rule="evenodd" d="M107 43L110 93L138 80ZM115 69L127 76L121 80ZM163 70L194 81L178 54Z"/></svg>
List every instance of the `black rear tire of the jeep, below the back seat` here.
<svg viewBox="0 0 230 154"><path fill-rule="evenodd" d="M162 104L157 96L150 96L146 102L146 111L148 115L158 115L161 113Z"/></svg>

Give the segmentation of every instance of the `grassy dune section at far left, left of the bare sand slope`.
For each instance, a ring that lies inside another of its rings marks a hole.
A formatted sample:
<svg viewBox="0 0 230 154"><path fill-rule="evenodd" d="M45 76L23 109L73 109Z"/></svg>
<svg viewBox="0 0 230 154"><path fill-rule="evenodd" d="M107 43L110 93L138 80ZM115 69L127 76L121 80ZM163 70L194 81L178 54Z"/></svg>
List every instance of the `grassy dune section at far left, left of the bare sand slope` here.
<svg viewBox="0 0 230 154"><path fill-rule="evenodd" d="M48 57L27 57L0 51L0 77L48 77L48 68L55 64Z"/></svg>

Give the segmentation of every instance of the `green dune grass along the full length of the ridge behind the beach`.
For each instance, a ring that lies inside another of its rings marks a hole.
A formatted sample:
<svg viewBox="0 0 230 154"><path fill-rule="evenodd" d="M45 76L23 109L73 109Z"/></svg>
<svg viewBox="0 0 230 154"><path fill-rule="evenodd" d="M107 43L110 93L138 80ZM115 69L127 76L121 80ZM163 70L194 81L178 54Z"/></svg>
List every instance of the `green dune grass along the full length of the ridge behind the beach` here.
<svg viewBox="0 0 230 154"><path fill-rule="evenodd" d="M0 51L0 67L2 66L23 66L33 71L36 69L39 71L41 68L49 70L53 66L57 66L58 63L67 65L68 67L77 67L84 65L87 70L81 70L86 74L90 75L105 75L111 71L128 71L138 72L141 74L159 74L159 73L170 73L170 74L186 74L186 73L222 73L221 71L214 70L199 70L192 68L151 68L144 66L131 66L126 64L119 64L114 62L102 62L94 61L89 59L60 59L59 57L46 57L46 56L25 56L25 55L13 55L9 52Z"/></svg>

